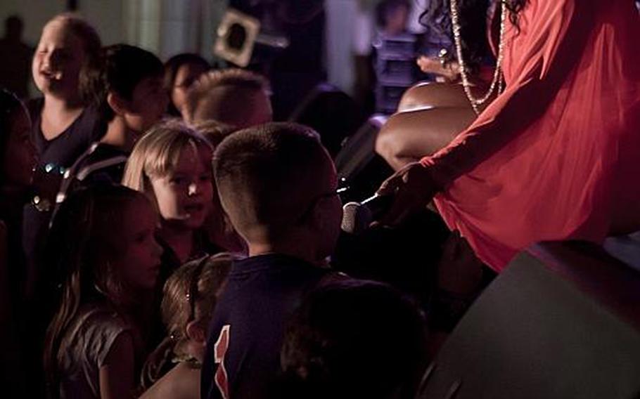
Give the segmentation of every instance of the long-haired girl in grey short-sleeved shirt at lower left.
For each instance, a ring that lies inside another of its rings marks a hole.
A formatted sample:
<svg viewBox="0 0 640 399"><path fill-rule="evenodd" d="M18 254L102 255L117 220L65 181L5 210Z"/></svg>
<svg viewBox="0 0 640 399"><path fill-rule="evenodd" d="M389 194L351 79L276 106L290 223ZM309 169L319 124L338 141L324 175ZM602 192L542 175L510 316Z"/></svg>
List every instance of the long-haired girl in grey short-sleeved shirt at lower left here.
<svg viewBox="0 0 640 399"><path fill-rule="evenodd" d="M142 355L137 317L162 249L148 199L121 186L74 193L52 226L47 259L62 291L44 340L47 391L56 398L131 398Z"/></svg>

